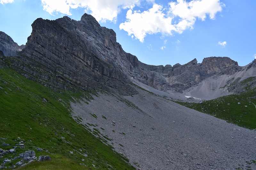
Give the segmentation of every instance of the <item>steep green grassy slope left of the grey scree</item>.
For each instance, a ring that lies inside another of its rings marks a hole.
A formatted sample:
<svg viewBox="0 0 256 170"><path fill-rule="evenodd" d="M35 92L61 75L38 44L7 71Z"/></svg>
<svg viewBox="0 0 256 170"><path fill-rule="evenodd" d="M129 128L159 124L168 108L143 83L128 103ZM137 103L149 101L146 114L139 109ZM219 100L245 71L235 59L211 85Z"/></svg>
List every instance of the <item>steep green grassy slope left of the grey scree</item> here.
<svg viewBox="0 0 256 170"><path fill-rule="evenodd" d="M92 99L85 91L63 91L61 94L24 78L10 68L0 68L0 141L10 144L0 147L11 149L19 143L20 137L25 148L16 148L13 157L34 150L37 157L49 155L52 158L46 162L32 162L23 169L92 169L92 164L99 169L134 169L124 161L126 158L72 119L69 101L75 101L71 96L77 101ZM44 148L44 151L36 151L36 147ZM6 156L0 158L0 162ZM20 160L13 160L8 166Z"/></svg>

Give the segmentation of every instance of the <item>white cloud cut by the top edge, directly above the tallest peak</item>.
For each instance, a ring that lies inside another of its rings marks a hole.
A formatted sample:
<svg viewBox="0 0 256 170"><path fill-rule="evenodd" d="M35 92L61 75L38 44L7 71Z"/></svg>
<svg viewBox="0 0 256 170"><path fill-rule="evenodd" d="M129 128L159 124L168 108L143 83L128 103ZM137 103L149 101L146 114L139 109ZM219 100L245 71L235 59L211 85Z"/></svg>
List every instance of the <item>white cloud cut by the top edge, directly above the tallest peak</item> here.
<svg viewBox="0 0 256 170"><path fill-rule="evenodd" d="M90 13L97 21L116 21L117 14L126 8L132 9L140 4L140 0L41 0L45 11L53 14L60 12L67 15L70 8L85 8L85 12Z"/></svg>

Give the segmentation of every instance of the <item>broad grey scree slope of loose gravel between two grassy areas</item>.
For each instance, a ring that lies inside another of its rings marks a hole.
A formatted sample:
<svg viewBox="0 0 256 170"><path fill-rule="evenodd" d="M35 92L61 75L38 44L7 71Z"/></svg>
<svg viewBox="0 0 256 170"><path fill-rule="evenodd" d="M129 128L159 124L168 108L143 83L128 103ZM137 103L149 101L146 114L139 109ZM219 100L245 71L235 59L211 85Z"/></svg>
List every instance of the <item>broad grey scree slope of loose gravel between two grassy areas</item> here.
<svg viewBox="0 0 256 170"><path fill-rule="evenodd" d="M137 90L71 103L74 119L111 139L137 169L256 169L255 130Z"/></svg>

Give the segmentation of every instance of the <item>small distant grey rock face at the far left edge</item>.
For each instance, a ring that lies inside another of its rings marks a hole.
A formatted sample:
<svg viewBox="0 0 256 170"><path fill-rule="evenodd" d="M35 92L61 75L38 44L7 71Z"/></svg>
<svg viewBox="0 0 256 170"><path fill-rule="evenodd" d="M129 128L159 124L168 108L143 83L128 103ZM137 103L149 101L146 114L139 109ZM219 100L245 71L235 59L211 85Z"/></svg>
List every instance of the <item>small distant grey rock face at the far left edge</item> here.
<svg viewBox="0 0 256 170"><path fill-rule="evenodd" d="M3 51L5 56L16 55L24 47L25 45L19 46L9 35L0 31L0 50Z"/></svg>

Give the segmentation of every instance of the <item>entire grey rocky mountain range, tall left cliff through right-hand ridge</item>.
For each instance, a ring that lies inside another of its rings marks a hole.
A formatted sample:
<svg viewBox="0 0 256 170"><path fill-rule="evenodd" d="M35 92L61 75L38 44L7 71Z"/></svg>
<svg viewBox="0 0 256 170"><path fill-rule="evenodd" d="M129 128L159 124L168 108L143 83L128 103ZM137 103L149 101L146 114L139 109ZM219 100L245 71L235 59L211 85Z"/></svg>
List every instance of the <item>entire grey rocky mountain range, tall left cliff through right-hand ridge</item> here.
<svg viewBox="0 0 256 170"><path fill-rule="evenodd" d="M244 79L243 75L256 76L255 60L244 67L228 57L208 57L202 63L194 59L173 66L141 63L116 42L112 29L101 27L88 14L80 21L66 16L52 21L38 18L32 24L26 47L20 52L11 47L12 43L2 38L0 50L5 56L16 56L13 64L19 72L52 88L76 86L136 94L129 83L132 78L161 91L211 99L241 92L237 83ZM15 52L6 55L7 48ZM255 82L252 84L254 87Z"/></svg>

